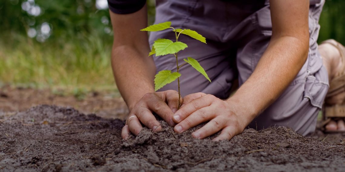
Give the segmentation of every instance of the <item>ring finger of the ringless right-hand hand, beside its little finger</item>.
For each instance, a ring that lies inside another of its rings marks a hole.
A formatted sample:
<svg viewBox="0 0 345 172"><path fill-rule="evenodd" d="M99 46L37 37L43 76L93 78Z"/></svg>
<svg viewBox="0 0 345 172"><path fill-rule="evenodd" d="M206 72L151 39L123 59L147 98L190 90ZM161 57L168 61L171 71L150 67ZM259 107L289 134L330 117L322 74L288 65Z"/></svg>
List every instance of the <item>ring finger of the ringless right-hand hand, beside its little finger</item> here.
<svg viewBox="0 0 345 172"><path fill-rule="evenodd" d="M213 135L225 126L225 121L221 117L217 117L206 123L204 127L201 127L197 131L192 133L192 136L197 139L203 139Z"/></svg>

